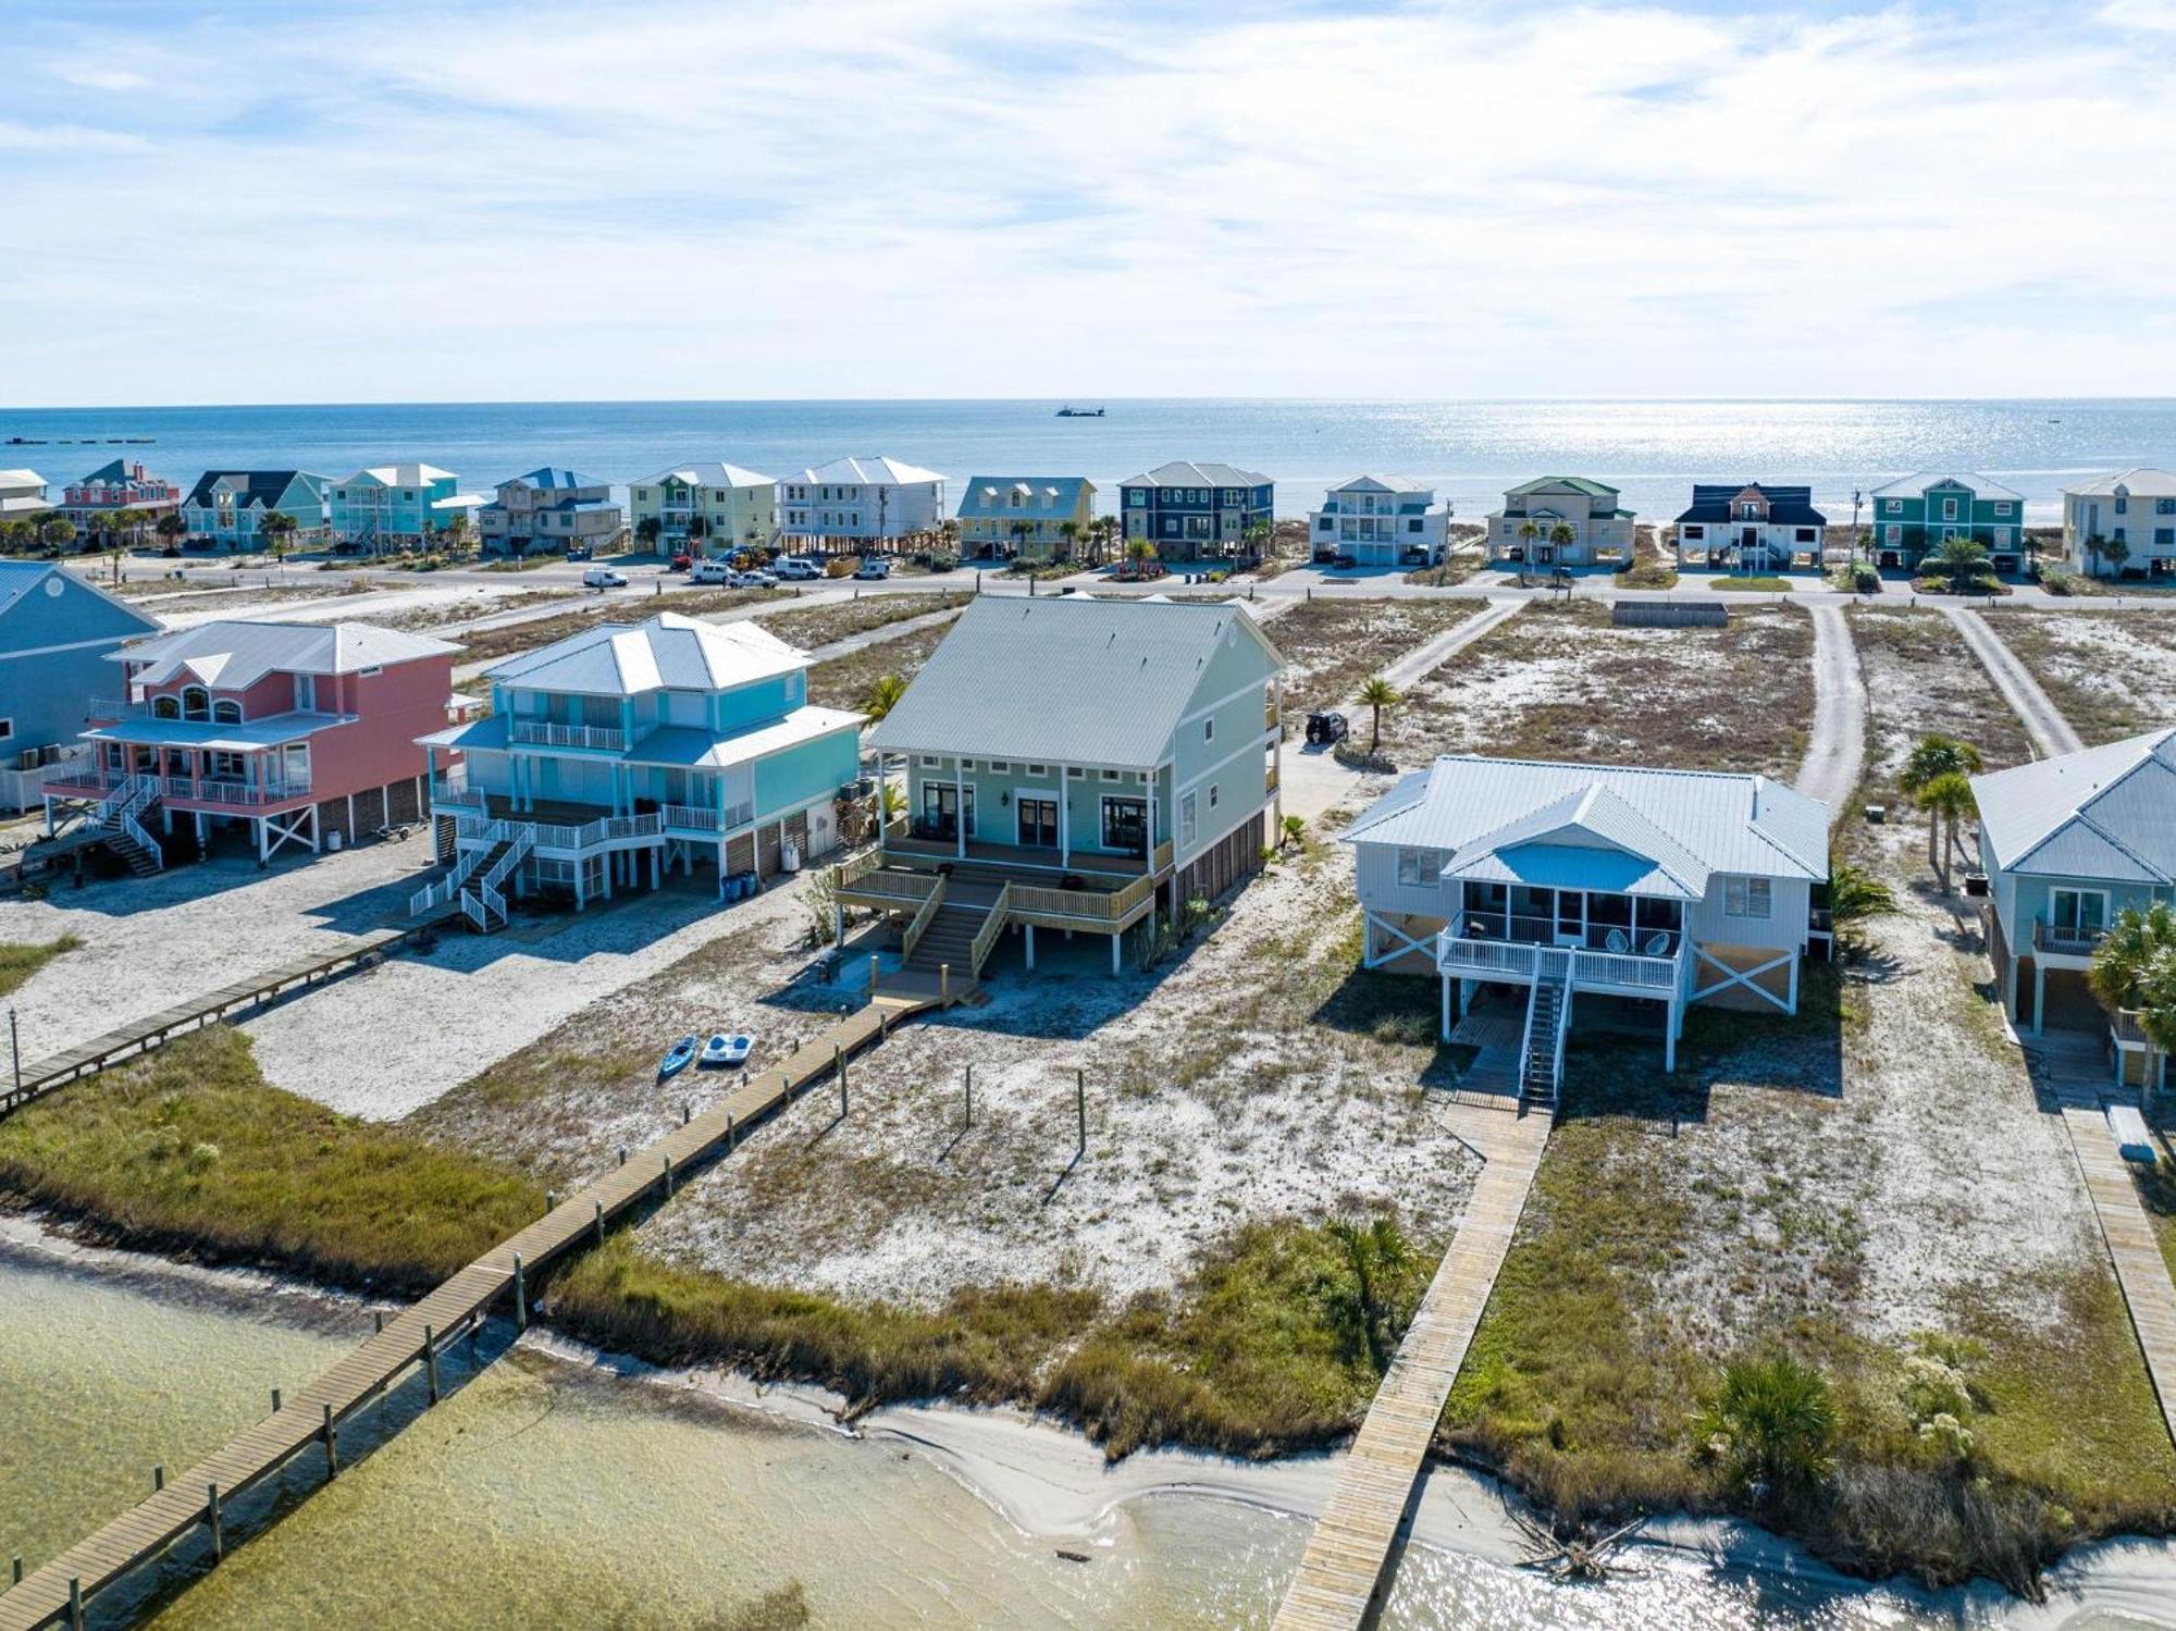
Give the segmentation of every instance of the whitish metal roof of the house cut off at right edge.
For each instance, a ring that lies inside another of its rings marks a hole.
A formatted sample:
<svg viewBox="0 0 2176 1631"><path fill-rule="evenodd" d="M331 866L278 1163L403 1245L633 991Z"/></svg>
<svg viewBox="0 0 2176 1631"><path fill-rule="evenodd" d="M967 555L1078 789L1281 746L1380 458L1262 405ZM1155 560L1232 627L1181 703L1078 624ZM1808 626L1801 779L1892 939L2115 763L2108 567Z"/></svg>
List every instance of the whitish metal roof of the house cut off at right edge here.
<svg viewBox="0 0 2176 1631"><path fill-rule="evenodd" d="M2176 729L1971 779L2004 872L2176 883Z"/></svg>

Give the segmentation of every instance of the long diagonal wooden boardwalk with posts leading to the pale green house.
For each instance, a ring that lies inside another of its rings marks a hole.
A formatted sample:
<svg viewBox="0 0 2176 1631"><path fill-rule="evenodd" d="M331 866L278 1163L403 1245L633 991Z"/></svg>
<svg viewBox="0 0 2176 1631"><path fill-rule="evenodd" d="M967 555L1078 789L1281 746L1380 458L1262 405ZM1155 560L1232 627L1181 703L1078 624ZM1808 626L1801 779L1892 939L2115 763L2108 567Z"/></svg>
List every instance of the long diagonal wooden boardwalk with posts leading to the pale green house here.
<svg viewBox="0 0 2176 1631"><path fill-rule="evenodd" d="M960 987L966 996L970 987ZM662 1140L611 1168L590 1187L568 1196L511 1240L503 1240L420 1303L385 1322L316 1381L283 1398L283 1407L226 1446L172 1479L98 1533L26 1574L0 1594L0 1631L37 1631L70 1624L83 1601L157 1557L196 1529L209 1529L213 1553L222 1548L222 1507L250 1490L289 1457L316 1448L326 1468L339 1466L339 1422L379 1398L400 1374L422 1364L437 1396L435 1355L492 1303L514 1294L516 1322L527 1322L531 1277L570 1248L592 1244L644 1198L666 1196L690 1168L720 1148L731 1148L740 1131L759 1122L814 1081L831 1074L833 1061L883 1039L910 1013L936 1007L934 992L903 985L881 992L860 1011L842 1018L816 1039L794 1050L781 1066L753 1072L742 1083Z"/></svg>

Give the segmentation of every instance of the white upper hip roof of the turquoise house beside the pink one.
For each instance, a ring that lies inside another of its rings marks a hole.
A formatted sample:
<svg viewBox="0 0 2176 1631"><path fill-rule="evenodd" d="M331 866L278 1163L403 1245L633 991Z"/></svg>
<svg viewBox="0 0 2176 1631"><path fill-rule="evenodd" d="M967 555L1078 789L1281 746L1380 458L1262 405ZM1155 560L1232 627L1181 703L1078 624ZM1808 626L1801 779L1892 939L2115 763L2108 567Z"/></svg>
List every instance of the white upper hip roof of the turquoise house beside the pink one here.
<svg viewBox="0 0 2176 1631"><path fill-rule="evenodd" d="M542 650L492 663L498 685L577 696L642 696L644 692L725 692L733 685L792 674L807 655L753 622L701 622L659 611L640 624L605 622L555 639Z"/></svg>

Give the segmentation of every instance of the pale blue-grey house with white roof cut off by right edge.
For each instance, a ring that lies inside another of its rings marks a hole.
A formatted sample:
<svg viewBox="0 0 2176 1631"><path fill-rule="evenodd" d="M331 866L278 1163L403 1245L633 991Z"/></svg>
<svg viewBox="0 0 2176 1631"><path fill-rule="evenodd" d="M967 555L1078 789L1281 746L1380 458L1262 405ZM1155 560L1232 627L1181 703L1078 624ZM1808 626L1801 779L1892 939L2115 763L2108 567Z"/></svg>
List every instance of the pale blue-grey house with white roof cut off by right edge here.
<svg viewBox="0 0 2176 1631"><path fill-rule="evenodd" d="M2176 900L2176 729L1991 770L1971 794L2002 1007L2035 1033L2106 1026L2137 1081L2146 1037L2085 974L2117 911Z"/></svg>

